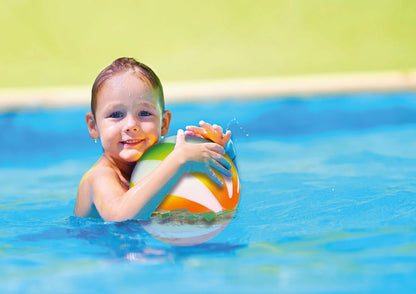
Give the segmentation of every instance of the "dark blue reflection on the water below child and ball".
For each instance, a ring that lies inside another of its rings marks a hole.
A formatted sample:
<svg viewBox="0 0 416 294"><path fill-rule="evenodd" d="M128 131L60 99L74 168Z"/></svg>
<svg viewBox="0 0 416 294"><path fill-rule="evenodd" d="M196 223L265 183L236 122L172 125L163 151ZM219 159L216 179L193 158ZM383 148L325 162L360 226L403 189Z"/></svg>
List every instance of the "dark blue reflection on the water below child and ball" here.
<svg viewBox="0 0 416 294"><path fill-rule="evenodd" d="M34 247L39 244L49 247L53 243L77 240L80 244L79 250L72 258L96 253L99 259L126 259L145 263L174 262L201 254L231 254L245 247L227 243L206 243L191 247L165 246L150 237L138 221L113 223L75 216L62 221L60 226L39 233L23 234L17 239L28 242L27 244L38 242L32 243Z"/></svg>

